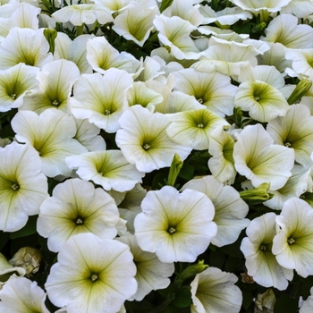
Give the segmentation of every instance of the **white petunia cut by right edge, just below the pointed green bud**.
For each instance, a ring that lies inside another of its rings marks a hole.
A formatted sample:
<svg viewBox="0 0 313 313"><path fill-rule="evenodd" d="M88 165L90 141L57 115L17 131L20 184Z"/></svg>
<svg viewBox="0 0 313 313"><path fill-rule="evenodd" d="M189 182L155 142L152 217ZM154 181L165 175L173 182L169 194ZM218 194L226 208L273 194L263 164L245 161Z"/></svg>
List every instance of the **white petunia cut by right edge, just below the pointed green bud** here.
<svg viewBox="0 0 313 313"><path fill-rule="evenodd" d="M313 151L313 116L304 105L290 106L283 117L277 117L267 124L266 131L275 144L292 148L295 160L300 165L311 166Z"/></svg>

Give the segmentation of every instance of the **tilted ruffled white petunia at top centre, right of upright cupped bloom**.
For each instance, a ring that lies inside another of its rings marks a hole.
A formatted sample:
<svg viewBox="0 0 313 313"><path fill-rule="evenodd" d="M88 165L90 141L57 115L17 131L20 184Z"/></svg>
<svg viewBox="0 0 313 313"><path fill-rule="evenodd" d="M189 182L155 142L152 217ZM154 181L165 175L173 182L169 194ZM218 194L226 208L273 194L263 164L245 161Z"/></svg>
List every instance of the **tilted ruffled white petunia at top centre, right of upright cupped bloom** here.
<svg viewBox="0 0 313 313"><path fill-rule="evenodd" d="M154 24L158 30L157 37L163 45L171 48L171 54L178 60L198 59L200 55L204 55L190 38L191 31L196 30L190 21L161 14L155 17Z"/></svg>

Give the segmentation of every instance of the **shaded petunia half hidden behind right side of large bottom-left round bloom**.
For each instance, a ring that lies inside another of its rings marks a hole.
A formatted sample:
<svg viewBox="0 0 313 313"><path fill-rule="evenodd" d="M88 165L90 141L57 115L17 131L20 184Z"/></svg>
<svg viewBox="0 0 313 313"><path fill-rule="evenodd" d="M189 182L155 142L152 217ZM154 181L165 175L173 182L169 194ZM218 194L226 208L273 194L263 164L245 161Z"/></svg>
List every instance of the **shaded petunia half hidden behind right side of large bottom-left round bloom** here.
<svg viewBox="0 0 313 313"><path fill-rule="evenodd" d="M140 301L152 290L165 289L171 283L168 277L173 275L175 269L173 263L163 263L156 254L141 250L136 237L131 233L119 237L118 240L131 248L137 267L135 278L138 290L130 300Z"/></svg>

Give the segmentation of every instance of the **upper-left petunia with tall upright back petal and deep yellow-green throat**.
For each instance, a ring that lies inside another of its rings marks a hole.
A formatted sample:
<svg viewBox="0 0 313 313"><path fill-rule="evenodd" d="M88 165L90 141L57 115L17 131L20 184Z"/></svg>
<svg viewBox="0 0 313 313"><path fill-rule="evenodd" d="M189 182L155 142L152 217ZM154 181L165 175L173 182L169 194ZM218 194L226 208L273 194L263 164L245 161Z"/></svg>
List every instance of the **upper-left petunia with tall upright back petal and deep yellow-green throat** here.
<svg viewBox="0 0 313 313"><path fill-rule="evenodd" d="M27 97L24 97L21 110L40 114L55 107L66 113L72 86L79 77L80 70L71 61L56 60L45 64L37 74L38 89L31 90Z"/></svg>

